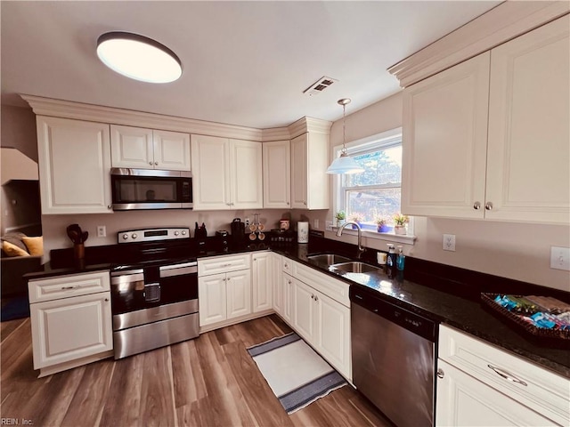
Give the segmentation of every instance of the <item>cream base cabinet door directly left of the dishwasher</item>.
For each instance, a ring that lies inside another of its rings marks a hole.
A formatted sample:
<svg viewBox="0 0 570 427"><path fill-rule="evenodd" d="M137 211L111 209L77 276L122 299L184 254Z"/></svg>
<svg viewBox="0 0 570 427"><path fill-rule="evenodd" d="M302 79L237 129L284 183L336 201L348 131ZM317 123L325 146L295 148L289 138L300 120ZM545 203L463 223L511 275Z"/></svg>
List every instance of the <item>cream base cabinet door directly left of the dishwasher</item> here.
<svg viewBox="0 0 570 427"><path fill-rule="evenodd" d="M321 293L317 302L317 350L346 378L352 378L350 309Z"/></svg>

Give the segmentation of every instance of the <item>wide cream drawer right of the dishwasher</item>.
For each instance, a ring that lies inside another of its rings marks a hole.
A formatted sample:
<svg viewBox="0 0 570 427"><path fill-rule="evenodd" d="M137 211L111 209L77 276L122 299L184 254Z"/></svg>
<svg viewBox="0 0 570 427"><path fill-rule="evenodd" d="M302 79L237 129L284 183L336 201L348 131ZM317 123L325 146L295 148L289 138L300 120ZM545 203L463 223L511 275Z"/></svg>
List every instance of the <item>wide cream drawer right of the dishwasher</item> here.
<svg viewBox="0 0 570 427"><path fill-rule="evenodd" d="M570 380L563 376L444 325L439 358L555 423L570 423Z"/></svg>

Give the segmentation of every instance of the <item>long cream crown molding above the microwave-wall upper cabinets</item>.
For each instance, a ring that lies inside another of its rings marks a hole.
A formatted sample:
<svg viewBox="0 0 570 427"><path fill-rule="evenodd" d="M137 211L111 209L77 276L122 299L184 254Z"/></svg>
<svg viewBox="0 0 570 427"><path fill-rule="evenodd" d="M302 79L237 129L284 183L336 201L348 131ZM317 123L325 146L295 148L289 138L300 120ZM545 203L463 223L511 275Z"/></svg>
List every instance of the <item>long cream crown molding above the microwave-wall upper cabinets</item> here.
<svg viewBox="0 0 570 427"><path fill-rule="evenodd" d="M164 116L130 109L102 107L82 102L53 100L20 94L38 116L64 117L90 122L147 127L165 131L221 136L248 141L262 141L262 130L253 127L225 125L192 118Z"/></svg>

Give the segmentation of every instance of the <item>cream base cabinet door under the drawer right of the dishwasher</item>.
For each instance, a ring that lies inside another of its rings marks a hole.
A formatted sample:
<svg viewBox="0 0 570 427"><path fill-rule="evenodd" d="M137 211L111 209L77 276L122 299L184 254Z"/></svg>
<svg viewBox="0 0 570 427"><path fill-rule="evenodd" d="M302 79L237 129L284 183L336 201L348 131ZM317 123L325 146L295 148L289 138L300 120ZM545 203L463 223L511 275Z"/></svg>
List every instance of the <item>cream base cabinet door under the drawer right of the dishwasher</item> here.
<svg viewBox="0 0 570 427"><path fill-rule="evenodd" d="M437 379L437 426L544 426L552 421L473 376L437 359L444 372Z"/></svg>

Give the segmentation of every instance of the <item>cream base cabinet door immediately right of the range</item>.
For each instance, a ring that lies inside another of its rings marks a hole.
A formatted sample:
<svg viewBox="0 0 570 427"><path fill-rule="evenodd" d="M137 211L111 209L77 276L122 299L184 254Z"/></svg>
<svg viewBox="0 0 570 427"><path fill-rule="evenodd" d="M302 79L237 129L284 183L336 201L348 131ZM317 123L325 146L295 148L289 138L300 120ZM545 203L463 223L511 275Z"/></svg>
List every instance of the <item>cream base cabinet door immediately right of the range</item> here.
<svg viewBox="0 0 570 427"><path fill-rule="evenodd" d="M225 273L198 278L199 326L227 318L225 281Z"/></svg>

